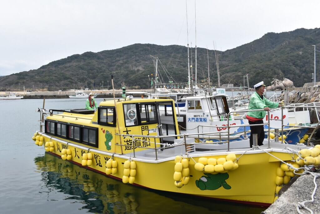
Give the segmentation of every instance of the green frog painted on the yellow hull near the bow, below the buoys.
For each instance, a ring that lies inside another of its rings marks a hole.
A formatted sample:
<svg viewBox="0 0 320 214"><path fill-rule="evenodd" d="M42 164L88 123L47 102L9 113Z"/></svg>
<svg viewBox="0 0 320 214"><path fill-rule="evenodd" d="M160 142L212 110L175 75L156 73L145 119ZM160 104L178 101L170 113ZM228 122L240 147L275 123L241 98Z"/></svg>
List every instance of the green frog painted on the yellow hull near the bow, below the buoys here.
<svg viewBox="0 0 320 214"><path fill-rule="evenodd" d="M229 178L228 173L218 173L216 175L204 173L204 175L196 180L196 186L200 190L216 190L221 186L225 189L231 189L231 186L226 182Z"/></svg>

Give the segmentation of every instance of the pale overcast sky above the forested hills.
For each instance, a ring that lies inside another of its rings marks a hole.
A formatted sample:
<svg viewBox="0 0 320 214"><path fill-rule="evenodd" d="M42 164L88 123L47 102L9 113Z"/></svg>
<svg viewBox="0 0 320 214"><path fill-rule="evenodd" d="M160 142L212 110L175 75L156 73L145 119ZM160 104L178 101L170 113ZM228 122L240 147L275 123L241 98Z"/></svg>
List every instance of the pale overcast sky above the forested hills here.
<svg viewBox="0 0 320 214"><path fill-rule="evenodd" d="M195 1L187 0L195 45ZM319 28L320 1L196 1L197 46L227 50L268 32ZM0 75L134 43L187 45L186 1L0 1Z"/></svg>

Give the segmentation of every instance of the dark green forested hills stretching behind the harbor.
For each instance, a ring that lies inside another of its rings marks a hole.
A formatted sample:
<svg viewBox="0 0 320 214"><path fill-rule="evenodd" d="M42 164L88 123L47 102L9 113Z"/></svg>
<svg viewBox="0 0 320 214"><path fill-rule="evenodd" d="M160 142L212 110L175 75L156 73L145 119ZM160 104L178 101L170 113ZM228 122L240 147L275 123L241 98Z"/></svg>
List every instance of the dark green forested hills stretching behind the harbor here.
<svg viewBox="0 0 320 214"><path fill-rule="evenodd" d="M236 38L235 38L236 39ZM320 29L296 29L283 33L267 33L263 37L239 47L218 52L221 83L239 85L243 75L249 74L249 84L272 78L289 78L295 86L310 82L314 71L314 47L320 49ZM191 50L190 50L191 52ZM195 71L195 50L193 71ZM27 89L41 90L100 88L111 86L114 75L116 88L126 83L128 88L147 88L148 75L154 73L150 55L158 56L177 82L187 82L187 47L180 45L134 44L98 53L85 52L50 62L36 70L0 77L1 90L14 90L19 83ZM190 56L191 59L191 56ZM210 80L217 83L214 51L209 50ZM160 64L160 63L159 63ZM159 70L161 72L162 68ZM191 64L191 62L190 62ZM317 70L320 70L320 58ZM207 81L207 50L197 48L197 79ZM317 72L317 77L320 72ZM166 75L163 73L166 78ZM170 75L169 75L170 77ZM319 80L319 79L318 79Z"/></svg>

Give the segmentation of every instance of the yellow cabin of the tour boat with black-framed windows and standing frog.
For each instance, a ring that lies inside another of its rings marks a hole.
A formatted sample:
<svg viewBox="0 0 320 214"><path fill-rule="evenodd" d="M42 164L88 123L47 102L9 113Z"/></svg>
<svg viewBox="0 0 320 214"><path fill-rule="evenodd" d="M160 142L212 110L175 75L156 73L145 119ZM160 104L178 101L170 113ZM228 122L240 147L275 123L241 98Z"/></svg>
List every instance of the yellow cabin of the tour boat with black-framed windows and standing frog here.
<svg viewBox="0 0 320 214"><path fill-rule="evenodd" d="M116 105L114 100L104 101L97 111L52 109L45 120L45 133L108 152L129 153L132 144L138 147L135 151L145 149L139 146L155 148L154 142L172 143L178 138L154 137L169 135L169 130L174 130L174 135L179 134L173 106L173 100L168 99L133 99L116 100Z"/></svg>

